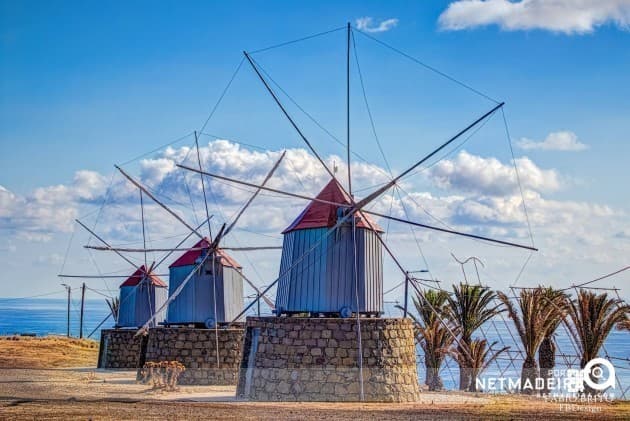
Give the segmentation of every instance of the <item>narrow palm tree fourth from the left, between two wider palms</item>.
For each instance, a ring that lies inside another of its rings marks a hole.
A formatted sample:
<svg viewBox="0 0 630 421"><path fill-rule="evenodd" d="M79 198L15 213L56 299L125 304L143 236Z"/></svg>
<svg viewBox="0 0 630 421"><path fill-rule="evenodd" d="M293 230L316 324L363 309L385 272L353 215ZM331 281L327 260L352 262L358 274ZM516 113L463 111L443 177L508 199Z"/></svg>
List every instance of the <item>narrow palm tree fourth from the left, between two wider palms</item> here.
<svg viewBox="0 0 630 421"><path fill-rule="evenodd" d="M553 320L549 323L549 330L545 333L543 341L540 343L538 349L538 364L540 366L540 376L545 379L543 394L549 393L547 388L547 379L553 378L553 369L556 366L556 344L553 337L558 329L558 326L566 317L567 306L569 302L569 296L554 288L542 288L543 301L547 304L554 306L558 311L553 314L550 313L549 317Z"/></svg>

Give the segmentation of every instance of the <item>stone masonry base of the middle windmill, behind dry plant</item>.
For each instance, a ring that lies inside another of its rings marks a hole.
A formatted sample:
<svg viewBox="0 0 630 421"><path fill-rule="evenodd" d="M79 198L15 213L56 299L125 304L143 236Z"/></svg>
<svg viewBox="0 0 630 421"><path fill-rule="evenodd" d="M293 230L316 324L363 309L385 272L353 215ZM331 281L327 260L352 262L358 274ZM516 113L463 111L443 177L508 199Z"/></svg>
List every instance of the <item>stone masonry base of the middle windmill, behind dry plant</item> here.
<svg viewBox="0 0 630 421"><path fill-rule="evenodd" d="M186 371L178 383L183 385L236 384L244 332L234 327L216 332L184 327L149 329L146 362L181 362Z"/></svg>

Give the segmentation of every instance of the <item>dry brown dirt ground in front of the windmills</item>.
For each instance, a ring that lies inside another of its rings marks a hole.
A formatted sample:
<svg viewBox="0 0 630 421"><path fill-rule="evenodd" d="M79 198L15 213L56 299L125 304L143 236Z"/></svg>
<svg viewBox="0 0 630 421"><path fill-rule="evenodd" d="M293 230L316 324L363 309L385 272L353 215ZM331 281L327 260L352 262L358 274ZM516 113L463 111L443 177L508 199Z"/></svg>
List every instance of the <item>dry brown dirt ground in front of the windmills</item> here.
<svg viewBox="0 0 630 421"><path fill-rule="evenodd" d="M563 406L531 397L459 392L425 392L412 404L241 402L235 400L233 386L181 386L175 392L160 392L136 383L134 371L96 370L93 348L80 350L81 357L66 352L53 358L54 351L45 350L40 362L29 362L26 355L37 359L37 352L20 352L14 343L5 346L9 342L0 339L2 420L630 419L630 402ZM27 340L22 346L41 348L43 343ZM77 358L89 364L60 368ZM34 368L46 361L57 368ZM29 368L15 368L23 366Z"/></svg>

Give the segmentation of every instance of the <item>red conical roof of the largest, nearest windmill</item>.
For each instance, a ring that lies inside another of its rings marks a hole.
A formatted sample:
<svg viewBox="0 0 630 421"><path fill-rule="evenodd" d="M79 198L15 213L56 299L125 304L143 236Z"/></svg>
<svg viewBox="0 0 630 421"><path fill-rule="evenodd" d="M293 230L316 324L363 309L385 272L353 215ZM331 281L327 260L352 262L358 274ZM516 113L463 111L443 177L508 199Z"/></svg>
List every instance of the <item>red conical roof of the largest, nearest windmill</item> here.
<svg viewBox="0 0 630 421"><path fill-rule="evenodd" d="M351 205L352 203L348 195L339 185L339 182L334 178L330 180L321 192L319 192L316 199L344 205ZM311 203L309 203L309 205L302 211L300 216L298 216L291 225L282 231L282 233L286 234L291 231L307 228L330 228L334 226L335 223L337 223L338 206L333 205L332 203L323 203L314 200L311 201ZM357 221L358 228L367 228L383 232L383 229L363 212L359 211L355 215L360 216L360 219ZM369 221L369 224L365 222L366 220ZM372 228L370 228L370 226Z"/></svg>

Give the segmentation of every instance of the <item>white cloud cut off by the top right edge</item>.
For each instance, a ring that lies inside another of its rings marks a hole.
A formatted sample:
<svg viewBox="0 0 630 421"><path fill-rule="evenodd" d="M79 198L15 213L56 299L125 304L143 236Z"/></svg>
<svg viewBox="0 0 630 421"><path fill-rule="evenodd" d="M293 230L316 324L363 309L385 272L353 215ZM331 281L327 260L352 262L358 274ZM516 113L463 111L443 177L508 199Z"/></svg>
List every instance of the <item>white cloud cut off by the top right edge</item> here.
<svg viewBox="0 0 630 421"><path fill-rule="evenodd" d="M507 31L542 29L585 34L613 23L630 27L628 0L458 0L439 17L446 30L498 25Z"/></svg>

